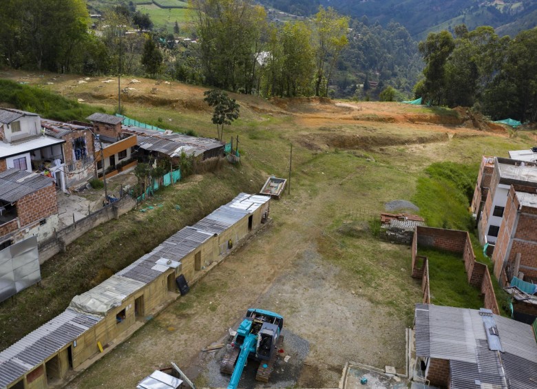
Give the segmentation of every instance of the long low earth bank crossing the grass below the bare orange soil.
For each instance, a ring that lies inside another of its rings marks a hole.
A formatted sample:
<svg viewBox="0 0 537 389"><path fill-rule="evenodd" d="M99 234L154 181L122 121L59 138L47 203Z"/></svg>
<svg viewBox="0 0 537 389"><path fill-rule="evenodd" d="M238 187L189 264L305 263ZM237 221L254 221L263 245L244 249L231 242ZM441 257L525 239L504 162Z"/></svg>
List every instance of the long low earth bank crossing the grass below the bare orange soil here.
<svg viewBox="0 0 537 389"><path fill-rule="evenodd" d="M412 145L422 143L446 142L449 139L448 134L432 134L428 136L362 136L356 134L319 134L319 136L310 135L306 139L316 144L322 142L328 147L337 147L339 149L369 149L379 146L397 146ZM317 140L317 142L315 142Z"/></svg>

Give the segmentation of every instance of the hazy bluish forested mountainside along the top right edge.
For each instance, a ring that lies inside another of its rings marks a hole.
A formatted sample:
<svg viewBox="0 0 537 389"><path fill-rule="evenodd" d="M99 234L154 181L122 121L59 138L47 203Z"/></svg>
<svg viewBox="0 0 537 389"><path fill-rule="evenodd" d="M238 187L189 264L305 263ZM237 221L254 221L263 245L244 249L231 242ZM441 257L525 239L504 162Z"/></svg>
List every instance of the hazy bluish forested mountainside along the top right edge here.
<svg viewBox="0 0 537 389"><path fill-rule="evenodd" d="M369 23L396 21L416 39L428 32L450 30L465 24L473 30L491 25L500 35L514 37L537 26L537 0L260 0L284 12L308 16L319 5L330 6L350 17L366 17ZM366 19L364 19L366 20Z"/></svg>

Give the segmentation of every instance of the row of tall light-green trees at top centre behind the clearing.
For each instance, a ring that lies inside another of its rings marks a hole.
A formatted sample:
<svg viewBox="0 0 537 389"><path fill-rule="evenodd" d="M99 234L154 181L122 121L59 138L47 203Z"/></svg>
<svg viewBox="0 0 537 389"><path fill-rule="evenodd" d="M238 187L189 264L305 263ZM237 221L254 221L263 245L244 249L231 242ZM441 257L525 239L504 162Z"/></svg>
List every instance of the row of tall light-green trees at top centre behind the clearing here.
<svg viewBox="0 0 537 389"><path fill-rule="evenodd" d="M191 0L205 81L267 96L328 93L347 45L348 17L319 8L313 23L269 24L253 0Z"/></svg>

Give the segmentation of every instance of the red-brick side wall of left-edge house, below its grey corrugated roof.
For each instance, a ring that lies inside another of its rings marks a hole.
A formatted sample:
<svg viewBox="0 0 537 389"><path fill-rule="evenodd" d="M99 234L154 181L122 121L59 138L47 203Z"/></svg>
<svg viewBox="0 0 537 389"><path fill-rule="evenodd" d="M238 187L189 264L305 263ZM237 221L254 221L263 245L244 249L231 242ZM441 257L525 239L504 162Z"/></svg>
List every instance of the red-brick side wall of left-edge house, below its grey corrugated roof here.
<svg viewBox="0 0 537 389"><path fill-rule="evenodd" d="M54 183L17 201L17 215L21 227L56 213L58 213L58 201Z"/></svg>

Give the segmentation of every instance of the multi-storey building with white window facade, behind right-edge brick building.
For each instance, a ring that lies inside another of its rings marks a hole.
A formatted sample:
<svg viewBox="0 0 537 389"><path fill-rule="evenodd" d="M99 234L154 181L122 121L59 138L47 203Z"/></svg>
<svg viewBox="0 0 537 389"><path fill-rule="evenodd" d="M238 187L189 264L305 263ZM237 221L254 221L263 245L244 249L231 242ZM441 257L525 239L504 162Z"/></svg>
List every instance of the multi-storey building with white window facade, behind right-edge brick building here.
<svg viewBox="0 0 537 389"><path fill-rule="evenodd" d="M537 164L494 158L489 191L477 224L479 242L483 245L496 243L511 185L524 191L537 189Z"/></svg>

